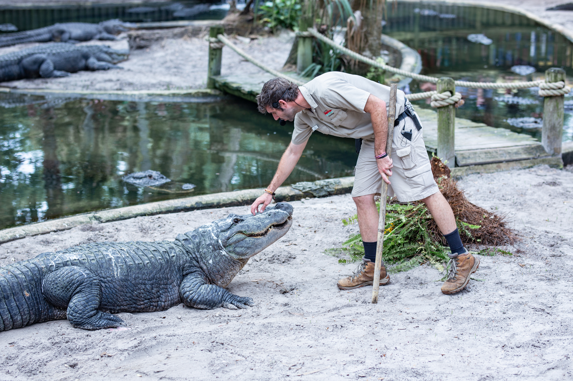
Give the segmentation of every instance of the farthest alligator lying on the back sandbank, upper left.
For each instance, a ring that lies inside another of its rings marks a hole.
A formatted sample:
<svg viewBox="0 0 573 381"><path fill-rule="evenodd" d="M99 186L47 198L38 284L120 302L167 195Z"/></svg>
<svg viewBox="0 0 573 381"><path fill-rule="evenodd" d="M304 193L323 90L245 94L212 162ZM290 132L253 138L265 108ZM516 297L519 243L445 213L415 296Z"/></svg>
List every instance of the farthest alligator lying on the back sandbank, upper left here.
<svg viewBox="0 0 573 381"><path fill-rule="evenodd" d="M98 24L87 22L64 22L40 29L19 31L0 35L0 47L23 42L80 42L91 39L115 40L115 35L127 31L131 25L118 19Z"/></svg>

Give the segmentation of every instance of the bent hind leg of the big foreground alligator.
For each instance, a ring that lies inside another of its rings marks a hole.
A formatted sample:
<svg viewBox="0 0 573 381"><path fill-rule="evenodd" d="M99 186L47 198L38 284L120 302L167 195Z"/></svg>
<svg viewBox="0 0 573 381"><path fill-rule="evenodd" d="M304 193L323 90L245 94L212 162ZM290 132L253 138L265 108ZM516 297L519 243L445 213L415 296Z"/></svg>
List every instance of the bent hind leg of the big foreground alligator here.
<svg viewBox="0 0 573 381"><path fill-rule="evenodd" d="M88 269L68 266L49 273L42 281L42 293L48 303L66 312L72 326L84 330L119 327L123 320L98 311L101 284Z"/></svg>

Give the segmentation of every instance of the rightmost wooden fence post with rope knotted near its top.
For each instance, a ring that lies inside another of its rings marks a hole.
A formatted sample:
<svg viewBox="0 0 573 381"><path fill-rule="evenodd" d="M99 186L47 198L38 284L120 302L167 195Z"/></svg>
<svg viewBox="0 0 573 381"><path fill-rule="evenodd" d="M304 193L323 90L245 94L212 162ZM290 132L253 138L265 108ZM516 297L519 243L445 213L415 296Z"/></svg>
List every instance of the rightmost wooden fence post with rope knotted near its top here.
<svg viewBox="0 0 573 381"><path fill-rule="evenodd" d="M565 81L565 70L551 68L545 70L545 82ZM543 128L541 128L541 144L548 154L561 154L563 137L563 96L544 97Z"/></svg>

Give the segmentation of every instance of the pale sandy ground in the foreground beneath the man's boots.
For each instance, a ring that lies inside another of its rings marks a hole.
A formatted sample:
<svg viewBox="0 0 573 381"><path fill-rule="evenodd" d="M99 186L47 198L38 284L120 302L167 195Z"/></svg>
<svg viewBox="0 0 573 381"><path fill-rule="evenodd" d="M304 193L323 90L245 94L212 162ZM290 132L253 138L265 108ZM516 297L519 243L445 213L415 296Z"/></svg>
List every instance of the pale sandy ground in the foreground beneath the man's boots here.
<svg viewBox="0 0 573 381"><path fill-rule="evenodd" d="M126 330L84 331L59 320L2 332L0 379L571 378L573 169L475 174L461 185L474 203L508 213L521 241L506 248L514 256L480 256L476 280L456 295L442 295L441 275L425 265L392 275L377 305L369 303L371 287L340 291L336 280L355 264L323 251L356 231L340 222L354 213L352 199L297 201L291 230L229 287L253 297L254 307L121 313ZM247 210L138 217L29 237L0 245L0 264L92 241L173 239ZM294 289L281 294L265 280Z"/></svg>

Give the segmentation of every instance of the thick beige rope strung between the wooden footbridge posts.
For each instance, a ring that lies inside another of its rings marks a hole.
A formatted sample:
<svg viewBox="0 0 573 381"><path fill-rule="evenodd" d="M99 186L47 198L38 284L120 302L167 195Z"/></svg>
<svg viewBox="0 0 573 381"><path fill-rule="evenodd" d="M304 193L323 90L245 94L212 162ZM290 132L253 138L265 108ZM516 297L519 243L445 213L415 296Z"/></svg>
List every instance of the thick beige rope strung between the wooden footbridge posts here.
<svg viewBox="0 0 573 381"><path fill-rule="evenodd" d="M393 66L388 66L384 63L376 62L374 59L364 57L364 55L356 53L344 47L342 45L337 44L336 42L332 41L332 39L326 37L325 35L319 33L316 29L308 29L306 32L297 32L297 36L299 37L315 37L320 41L327 43L327 45L331 46L333 49L340 51L340 53L348 55L348 57L355 59L356 61L361 61L367 63L368 65L374 66L376 68L386 70L387 72L398 74L399 76L403 77L410 77L414 80L418 81L425 81L431 82L433 84L438 82L439 78L424 76L422 74L416 74L407 72L406 70L394 68ZM238 55L245 58L253 65L258 66L265 72L273 74L276 77L283 77L287 80L302 86L305 84L304 81L298 80L296 78L292 78L286 76L284 73L278 72L269 66L264 65L261 62L258 62L256 59L251 57L249 54L245 53L245 51L241 50L239 47L234 45L228 38L226 38L223 34L218 34L217 38L209 38L211 49L221 49L222 45L226 45L233 49ZM536 88L539 87L539 96L540 97L555 97L555 96L562 96L564 94L568 94L571 91L571 88L565 84L564 81L559 82L545 82L543 80L539 81L528 81L528 82L468 82L468 81L455 81L456 86L461 86L465 88L472 88L472 89L528 89L528 88ZM456 107L461 106L464 104L464 100L462 100L462 96L460 93L456 92L452 95L451 92L443 92L438 93L437 91L431 92L424 92L424 93L414 93L414 94L406 94L406 98L410 101L419 101L422 99L430 98L430 106L433 108L440 108L449 105L455 105Z"/></svg>

